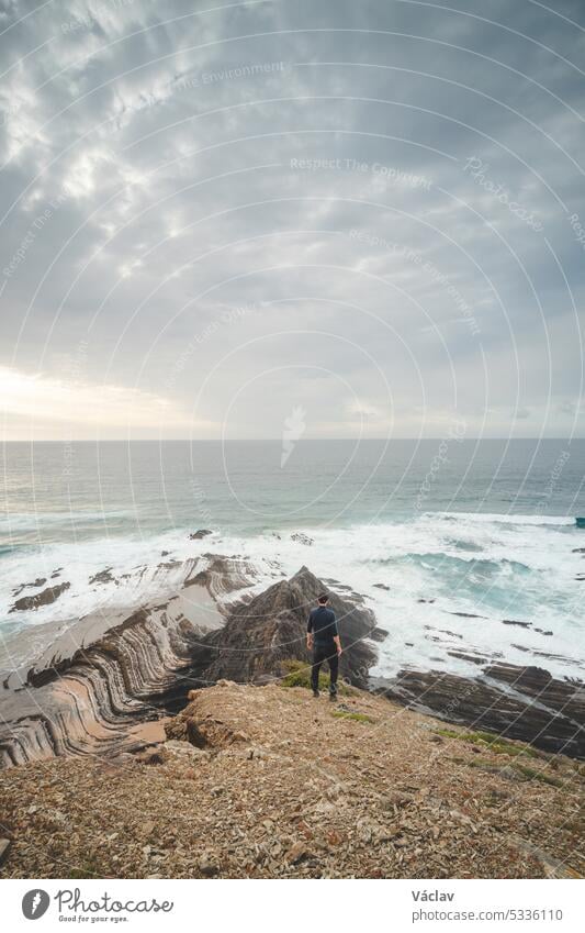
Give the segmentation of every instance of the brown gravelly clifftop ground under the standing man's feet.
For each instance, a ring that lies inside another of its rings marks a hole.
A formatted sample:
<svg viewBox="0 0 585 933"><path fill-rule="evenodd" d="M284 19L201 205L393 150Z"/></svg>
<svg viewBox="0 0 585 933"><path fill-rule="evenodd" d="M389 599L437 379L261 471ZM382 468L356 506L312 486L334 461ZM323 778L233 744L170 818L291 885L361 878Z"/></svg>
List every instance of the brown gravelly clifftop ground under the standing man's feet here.
<svg viewBox="0 0 585 933"><path fill-rule="evenodd" d="M2 876L584 873L585 778L570 758L491 744L369 693L333 704L229 681L198 691L167 734L139 756L0 773Z"/></svg>

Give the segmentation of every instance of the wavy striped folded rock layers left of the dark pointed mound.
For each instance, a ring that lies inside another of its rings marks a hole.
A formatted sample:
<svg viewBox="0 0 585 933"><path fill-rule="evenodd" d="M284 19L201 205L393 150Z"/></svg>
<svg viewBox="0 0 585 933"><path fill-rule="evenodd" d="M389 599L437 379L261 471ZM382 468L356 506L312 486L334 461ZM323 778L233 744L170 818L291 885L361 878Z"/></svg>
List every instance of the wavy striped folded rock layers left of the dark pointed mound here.
<svg viewBox="0 0 585 933"><path fill-rule="evenodd" d="M30 670L22 686L4 684L2 766L142 747L145 724L180 704L191 634L169 609L138 610L71 657Z"/></svg>

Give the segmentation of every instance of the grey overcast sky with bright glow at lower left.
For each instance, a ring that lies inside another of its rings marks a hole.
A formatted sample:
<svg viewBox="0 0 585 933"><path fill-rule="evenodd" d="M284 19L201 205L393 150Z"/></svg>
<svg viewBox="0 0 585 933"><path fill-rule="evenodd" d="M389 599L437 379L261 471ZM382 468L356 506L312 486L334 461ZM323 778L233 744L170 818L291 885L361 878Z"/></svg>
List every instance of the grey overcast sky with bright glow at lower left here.
<svg viewBox="0 0 585 933"><path fill-rule="evenodd" d="M5 438L585 436L582 0L4 0L0 62Z"/></svg>

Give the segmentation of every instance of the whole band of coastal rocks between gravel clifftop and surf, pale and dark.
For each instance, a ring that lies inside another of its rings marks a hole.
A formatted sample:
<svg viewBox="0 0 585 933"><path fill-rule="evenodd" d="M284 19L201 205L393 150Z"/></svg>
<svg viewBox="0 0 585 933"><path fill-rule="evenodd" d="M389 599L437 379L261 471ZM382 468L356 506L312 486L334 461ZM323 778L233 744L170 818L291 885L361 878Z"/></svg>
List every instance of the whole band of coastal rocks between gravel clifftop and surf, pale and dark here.
<svg viewBox="0 0 585 933"><path fill-rule="evenodd" d="M266 685L285 675L288 662L308 664L306 613L324 582L306 567L251 593L252 569L241 558L205 554L188 565L171 599L117 618L87 617L32 668L3 680L1 767L138 752L162 740L189 689L221 679ZM585 758L583 682L482 658L475 678L405 669L373 681L375 646L387 631L359 595L328 588L349 684L448 722Z"/></svg>

